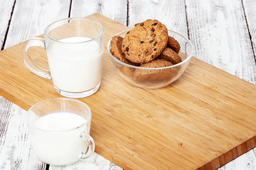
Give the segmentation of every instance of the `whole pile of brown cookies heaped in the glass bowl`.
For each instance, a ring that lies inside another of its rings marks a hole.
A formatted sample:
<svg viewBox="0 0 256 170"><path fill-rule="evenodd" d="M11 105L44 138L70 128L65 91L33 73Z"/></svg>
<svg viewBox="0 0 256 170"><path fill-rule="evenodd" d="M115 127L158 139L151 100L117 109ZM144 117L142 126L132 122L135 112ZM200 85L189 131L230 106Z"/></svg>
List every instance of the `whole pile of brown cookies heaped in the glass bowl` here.
<svg viewBox="0 0 256 170"><path fill-rule="evenodd" d="M168 36L165 25L157 20L146 20L135 24L125 37L111 39L111 54L121 62L134 67L120 68L123 74L137 81L164 80L177 75L179 67L164 68L182 62L178 55L180 44Z"/></svg>

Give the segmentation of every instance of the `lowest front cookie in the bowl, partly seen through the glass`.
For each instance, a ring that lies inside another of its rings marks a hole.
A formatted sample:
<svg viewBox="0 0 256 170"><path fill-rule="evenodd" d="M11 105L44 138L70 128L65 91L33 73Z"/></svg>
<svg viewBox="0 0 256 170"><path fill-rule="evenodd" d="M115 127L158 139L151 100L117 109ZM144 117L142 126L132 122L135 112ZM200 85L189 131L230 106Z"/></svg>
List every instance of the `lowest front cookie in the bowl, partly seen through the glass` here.
<svg viewBox="0 0 256 170"><path fill-rule="evenodd" d="M172 62L165 59L156 59L151 62L140 65L145 68L161 68L173 65ZM176 68L163 69L140 69L137 68L134 72L134 79L137 81L163 80L170 79L177 75Z"/></svg>

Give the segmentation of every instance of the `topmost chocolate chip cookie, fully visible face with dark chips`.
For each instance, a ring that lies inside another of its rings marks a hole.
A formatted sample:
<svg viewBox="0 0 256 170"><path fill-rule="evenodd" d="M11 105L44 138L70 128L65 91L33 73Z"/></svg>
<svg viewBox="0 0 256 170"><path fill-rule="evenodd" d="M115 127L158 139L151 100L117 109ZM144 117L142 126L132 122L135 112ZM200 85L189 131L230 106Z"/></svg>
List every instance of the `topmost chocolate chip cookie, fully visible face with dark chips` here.
<svg viewBox="0 0 256 170"><path fill-rule="evenodd" d="M122 55L131 62L146 63L154 60L166 47L168 32L157 20L135 24L122 41Z"/></svg>

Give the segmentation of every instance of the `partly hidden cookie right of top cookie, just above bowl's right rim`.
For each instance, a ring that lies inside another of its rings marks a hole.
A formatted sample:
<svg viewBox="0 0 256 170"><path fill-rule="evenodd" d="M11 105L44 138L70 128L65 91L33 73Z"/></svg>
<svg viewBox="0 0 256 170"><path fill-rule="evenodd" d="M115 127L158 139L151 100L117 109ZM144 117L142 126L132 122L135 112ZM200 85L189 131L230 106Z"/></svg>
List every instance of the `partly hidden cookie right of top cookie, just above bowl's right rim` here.
<svg viewBox="0 0 256 170"><path fill-rule="evenodd" d="M180 56L173 51L171 48L166 47L162 53L157 57L159 59L166 59L167 61L172 62L172 64L178 64L182 62Z"/></svg>

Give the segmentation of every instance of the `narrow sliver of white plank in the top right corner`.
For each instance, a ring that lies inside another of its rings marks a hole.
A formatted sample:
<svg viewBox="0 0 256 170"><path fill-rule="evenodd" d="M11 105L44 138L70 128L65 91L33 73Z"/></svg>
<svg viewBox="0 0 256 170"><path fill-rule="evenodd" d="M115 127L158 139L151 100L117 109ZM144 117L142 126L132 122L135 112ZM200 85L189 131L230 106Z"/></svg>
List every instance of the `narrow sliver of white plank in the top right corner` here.
<svg viewBox="0 0 256 170"><path fill-rule="evenodd" d="M242 0L256 59L256 0Z"/></svg>

